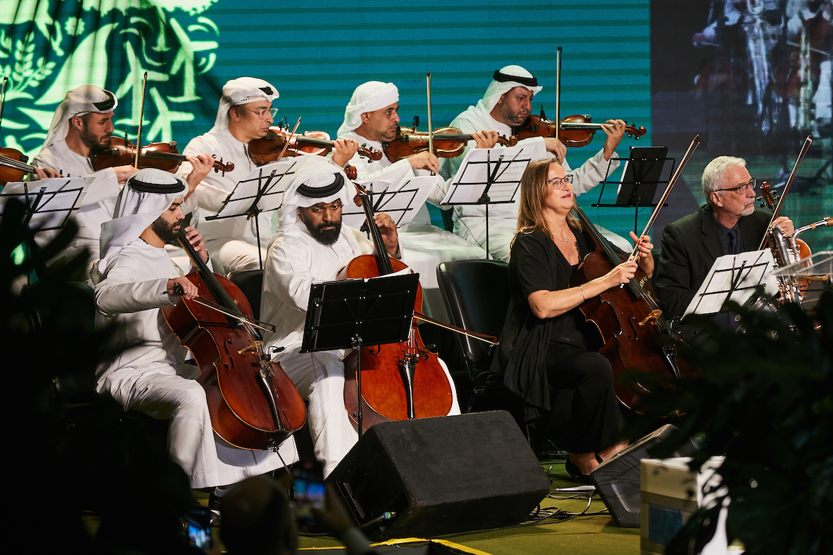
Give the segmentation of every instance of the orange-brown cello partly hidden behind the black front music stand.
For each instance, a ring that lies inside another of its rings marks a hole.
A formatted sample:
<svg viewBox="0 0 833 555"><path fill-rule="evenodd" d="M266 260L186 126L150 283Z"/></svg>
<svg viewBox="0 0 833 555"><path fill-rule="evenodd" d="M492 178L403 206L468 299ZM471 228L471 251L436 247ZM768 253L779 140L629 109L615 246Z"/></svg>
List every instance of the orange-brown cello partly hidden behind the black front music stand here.
<svg viewBox="0 0 833 555"><path fill-rule="evenodd" d="M407 269L407 265L400 260L391 260L387 254L382 233L373 221L374 211L369 195L367 191L359 187L357 189L376 254L354 258L345 269L346 277L367 279ZM416 312L421 312L421 305L422 290L417 288ZM345 359L344 381L344 403L353 427L357 430L359 423L356 415L360 402L363 415L362 430L370 428L373 424L391 420L445 416L451 410L453 386L449 383L436 354L425 348L415 326L411 328L408 341L402 344L363 347L359 356L361 378L356 371L356 357L351 356ZM408 384L409 380L406 377L409 372L413 377L411 384ZM361 392L359 379L362 383ZM412 395L407 389L412 389ZM410 407L409 398L413 400Z"/></svg>

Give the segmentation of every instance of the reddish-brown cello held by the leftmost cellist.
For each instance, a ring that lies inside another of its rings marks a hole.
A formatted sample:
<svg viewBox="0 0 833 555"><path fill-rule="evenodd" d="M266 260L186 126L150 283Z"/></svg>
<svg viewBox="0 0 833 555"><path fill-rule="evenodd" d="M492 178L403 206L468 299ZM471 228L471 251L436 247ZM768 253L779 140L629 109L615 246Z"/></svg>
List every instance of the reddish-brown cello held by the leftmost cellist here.
<svg viewBox="0 0 833 555"><path fill-rule="evenodd" d="M277 451L307 421L301 394L264 352L262 326L252 319L242 291L212 273L184 228L177 240L197 269L187 279L197 285L199 296L182 297L162 315L197 359L197 381L206 390L212 429L235 447Z"/></svg>

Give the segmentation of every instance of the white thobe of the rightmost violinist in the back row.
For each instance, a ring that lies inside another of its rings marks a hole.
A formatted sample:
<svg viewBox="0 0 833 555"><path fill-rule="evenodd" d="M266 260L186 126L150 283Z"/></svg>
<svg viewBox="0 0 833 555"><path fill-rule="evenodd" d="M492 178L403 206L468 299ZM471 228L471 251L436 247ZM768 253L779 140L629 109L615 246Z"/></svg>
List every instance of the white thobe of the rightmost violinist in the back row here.
<svg viewBox="0 0 833 555"><path fill-rule="evenodd" d="M472 108L456 116L451 121L451 127L456 127L463 133L474 133L483 130L497 131L501 136L511 136L511 127L501 121L496 121L491 115L478 116L478 112ZM543 141L542 137L532 137L519 141L521 146L531 145L534 141ZM466 156L466 152L475 146L475 141L469 141L466 150L456 158L443 158L440 161L440 175L451 178L456 175L457 170ZM577 195L590 191L605 181L613 170L619 167L618 156L614 152L611 161L608 162L603 156L603 151L598 151L596 156L586 161L581 167L572 171L573 191ZM564 170L570 172L570 166L563 162ZM431 198L429 198L431 200ZM507 204L489 205L488 243L489 252L498 260L509 260L509 247L512 237L515 235L518 223L518 201ZM454 207L454 232L476 245L486 247L486 206L485 205L461 205ZM608 234L610 232L607 232ZM606 234L607 235L607 234ZM611 234L613 235L613 234ZM609 237L610 238L610 237Z"/></svg>

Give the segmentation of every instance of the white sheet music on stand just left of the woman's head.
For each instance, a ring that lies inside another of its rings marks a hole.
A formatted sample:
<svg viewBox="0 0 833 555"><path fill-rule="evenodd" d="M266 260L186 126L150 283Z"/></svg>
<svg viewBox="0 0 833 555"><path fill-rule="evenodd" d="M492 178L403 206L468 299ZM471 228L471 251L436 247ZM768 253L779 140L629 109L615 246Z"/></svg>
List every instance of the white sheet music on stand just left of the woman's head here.
<svg viewBox="0 0 833 555"><path fill-rule="evenodd" d="M479 204L491 178L490 202L513 202L527 164L546 158L543 141L526 146L472 148L451 181L441 204Z"/></svg>

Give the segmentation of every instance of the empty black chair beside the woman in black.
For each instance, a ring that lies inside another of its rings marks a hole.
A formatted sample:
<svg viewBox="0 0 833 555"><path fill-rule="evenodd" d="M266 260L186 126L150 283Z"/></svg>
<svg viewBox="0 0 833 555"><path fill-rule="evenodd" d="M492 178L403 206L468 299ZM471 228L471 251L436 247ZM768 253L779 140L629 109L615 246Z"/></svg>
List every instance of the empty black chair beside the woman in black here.
<svg viewBox="0 0 833 555"><path fill-rule="evenodd" d="M437 265L436 280L451 324L500 337L509 308L508 268L506 262L483 259L451 260ZM516 412L520 398L503 385L500 375L489 371L496 348L466 335L455 335L471 384L464 412L471 412L477 398L486 394L498 396L503 405L500 408Z"/></svg>

